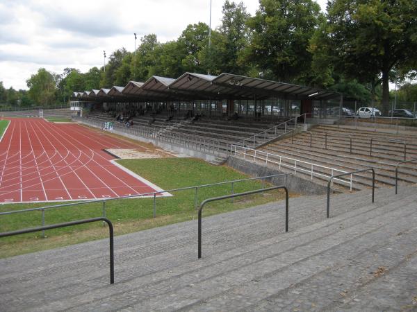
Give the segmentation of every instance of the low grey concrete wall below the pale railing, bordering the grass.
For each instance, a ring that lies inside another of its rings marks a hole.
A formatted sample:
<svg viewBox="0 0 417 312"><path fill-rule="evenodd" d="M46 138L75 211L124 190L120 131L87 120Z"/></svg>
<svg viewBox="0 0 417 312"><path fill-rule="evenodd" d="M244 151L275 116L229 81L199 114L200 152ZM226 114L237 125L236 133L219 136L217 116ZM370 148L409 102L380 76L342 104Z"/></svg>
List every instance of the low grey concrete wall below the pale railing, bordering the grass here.
<svg viewBox="0 0 417 312"><path fill-rule="evenodd" d="M270 168L268 166L261 166L260 164L255 164L254 162L248 162L247 160L240 159L238 157L229 157L226 164L231 168L235 168L236 170L253 177L284 173L282 171L278 171L277 169ZM283 175L282 177L273 177L267 181L275 185L285 185L288 187L288 191L301 193L303 195L320 195L327 192L327 187L314 183L314 180L304 180L297 177L297 175L288 175L287 178Z"/></svg>

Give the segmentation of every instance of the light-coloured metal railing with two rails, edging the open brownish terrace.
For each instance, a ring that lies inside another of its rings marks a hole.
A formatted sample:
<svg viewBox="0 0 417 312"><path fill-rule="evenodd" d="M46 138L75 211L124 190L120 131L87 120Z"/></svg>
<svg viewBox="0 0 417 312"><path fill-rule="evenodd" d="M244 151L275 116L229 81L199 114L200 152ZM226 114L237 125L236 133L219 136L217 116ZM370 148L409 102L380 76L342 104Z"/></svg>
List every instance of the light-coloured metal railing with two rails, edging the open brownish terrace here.
<svg viewBox="0 0 417 312"><path fill-rule="evenodd" d="M248 153L248 152L251 152L251 153ZM265 166L268 165L268 163L277 165L279 170L281 170L281 167L290 168L294 171L294 174L296 174L297 171L302 172L302 173L309 173L311 175L311 180L313 180L314 176L328 178L328 177L332 177L335 172L347 173L347 171L343 171L340 169L322 166L319 164L313 164L311 162L304 162L299 159L272 154L272 153L264 152L263 150L255 150L253 148L247 148L244 146L236 146L233 144L231 145L230 155L240 156L240 157L243 157L243 159L246 159L248 157L250 159L253 159L254 162L256 162L256 159L259 159L259 161L265 162ZM273 159L279 159L279 161L275 161ZM285 160L287 162L293 162L293 164L284 163L282 162L282 160ZM309 167L309 169L303 168L301 166L297 166L297 164L303 164L304 167ZM315 168L316 169L320 168L322 169L322 171L329 171L330 174L320 173L317 170L314 171ZM347 184L347 186L349 186L350 190L352 191L352 180L350 181L341 180L341 179L335 179L335 180L337 180L340 183Z"/></svg>

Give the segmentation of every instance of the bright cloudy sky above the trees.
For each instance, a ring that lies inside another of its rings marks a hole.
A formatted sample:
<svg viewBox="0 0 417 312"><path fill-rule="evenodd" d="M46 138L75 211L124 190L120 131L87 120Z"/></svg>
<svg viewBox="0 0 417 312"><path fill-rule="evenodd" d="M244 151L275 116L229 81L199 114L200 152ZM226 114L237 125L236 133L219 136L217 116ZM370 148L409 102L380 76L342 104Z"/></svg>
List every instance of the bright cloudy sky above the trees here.
<svg viewBox="0 0 417 312"><path fill-rule="evenodd" d="M239 2L239 1L235 1ZM327 0L317 1L325 10ZM212 0L211 26L222 18L224 0ZM243 0L254 15L259 0ZM28 89L26 79L44 67L63 73L104 64L122 47L134 51L133 33L177 40L188 24L209 22L210 0L0 0L0 81Z"/></svg>

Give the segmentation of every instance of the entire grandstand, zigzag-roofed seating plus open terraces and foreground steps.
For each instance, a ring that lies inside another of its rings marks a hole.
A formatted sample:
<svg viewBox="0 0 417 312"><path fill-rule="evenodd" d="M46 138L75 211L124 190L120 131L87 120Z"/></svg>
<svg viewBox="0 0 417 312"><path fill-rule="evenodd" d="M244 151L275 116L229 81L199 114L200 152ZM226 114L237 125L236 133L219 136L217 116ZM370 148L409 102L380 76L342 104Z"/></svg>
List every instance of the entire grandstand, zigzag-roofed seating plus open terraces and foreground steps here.
<svg viewBox="0 0 417 312"><path fill-rule="evenodd" d="M1 259L0 309L416 309L416 132L334 123L342 105L336 92L229 73L75 92L74 121L251 175L286 173L278 184L300 196L204 218L202 259L197 220L117 236L114 285L108 240Z"/></svg>

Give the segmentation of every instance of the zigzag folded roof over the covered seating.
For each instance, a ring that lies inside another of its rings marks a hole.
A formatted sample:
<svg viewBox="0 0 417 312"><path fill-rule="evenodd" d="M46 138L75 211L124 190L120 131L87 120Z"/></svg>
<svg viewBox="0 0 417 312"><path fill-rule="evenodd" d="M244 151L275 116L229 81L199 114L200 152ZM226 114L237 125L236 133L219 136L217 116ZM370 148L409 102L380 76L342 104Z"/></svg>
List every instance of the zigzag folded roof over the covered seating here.
<svg viewBox="0 0 417 312"><path fill-rule="evenodd" d="M74 92L75 95L76 92ZM339 98L338 92L280 83L278 81L251 78L222 73L219 76L202 73L183 73L179 78L152 76L145 83L129 81L125 87L93 89L83 98L108 101L109 98L128 96L132 101L162 101L188 99L264 99L271 97L289 99L328 100Z"/></svg>

